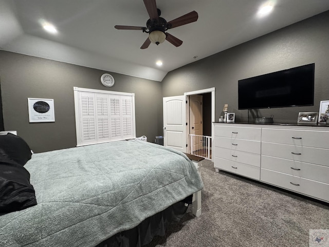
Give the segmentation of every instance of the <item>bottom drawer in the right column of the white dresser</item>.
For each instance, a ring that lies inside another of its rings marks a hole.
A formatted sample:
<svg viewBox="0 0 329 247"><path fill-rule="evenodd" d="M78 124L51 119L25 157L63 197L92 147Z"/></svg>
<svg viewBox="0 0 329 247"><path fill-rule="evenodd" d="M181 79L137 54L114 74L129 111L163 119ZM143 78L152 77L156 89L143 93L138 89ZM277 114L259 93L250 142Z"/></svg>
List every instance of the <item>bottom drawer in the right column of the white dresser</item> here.
<svg viewBox="0 0 329 247"><path fill-rule="evenodd" d="M284 173L261 169L261 181L288 190L302 193L306 196L329 201L329 184L302 179Z"/></svg>

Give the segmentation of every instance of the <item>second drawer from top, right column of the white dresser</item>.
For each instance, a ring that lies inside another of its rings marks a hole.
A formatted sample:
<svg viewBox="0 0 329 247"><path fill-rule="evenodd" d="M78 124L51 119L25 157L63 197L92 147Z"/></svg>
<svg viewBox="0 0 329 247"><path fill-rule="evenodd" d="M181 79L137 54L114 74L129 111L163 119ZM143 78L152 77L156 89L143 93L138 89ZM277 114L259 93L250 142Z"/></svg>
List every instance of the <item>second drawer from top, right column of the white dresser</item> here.
<svg viewBox="0 0 329 247"><path fill-rule="evenodd" d="M262 142L262 155L329 166L329 149Z"/></svg>

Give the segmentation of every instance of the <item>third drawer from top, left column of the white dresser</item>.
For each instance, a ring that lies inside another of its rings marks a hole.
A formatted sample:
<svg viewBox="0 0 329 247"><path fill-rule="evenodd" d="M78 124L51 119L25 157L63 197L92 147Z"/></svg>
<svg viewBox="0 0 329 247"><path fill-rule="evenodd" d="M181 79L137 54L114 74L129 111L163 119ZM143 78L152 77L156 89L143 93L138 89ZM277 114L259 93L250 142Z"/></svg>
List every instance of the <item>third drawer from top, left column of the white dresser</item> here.
<svg viewBox="0 0 329 247"><path fill-rule="evenodd" d="M261 166L261 155L248 153L226 148L215 147L215 157L225 158L226 160L248 164L251 166Z"/></svg>

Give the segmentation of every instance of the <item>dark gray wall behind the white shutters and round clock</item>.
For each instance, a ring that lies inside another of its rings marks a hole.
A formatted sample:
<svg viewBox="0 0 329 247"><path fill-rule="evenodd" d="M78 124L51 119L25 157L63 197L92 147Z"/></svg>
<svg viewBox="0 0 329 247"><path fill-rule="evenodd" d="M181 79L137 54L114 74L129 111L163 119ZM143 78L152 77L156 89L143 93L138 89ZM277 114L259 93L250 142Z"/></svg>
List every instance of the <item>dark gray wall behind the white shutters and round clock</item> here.
<svg viewBox="0 0 329 247"><path fill-rule="evenodd" d="M136 136L150 142L162 123L161 83L109 72L113 87L100 82L103 70L0 50L0 85L5 130L16 130L34 152L75 147L73 87L135 93ZM55 122L29 123L27 98L54 99Z"/></svg>

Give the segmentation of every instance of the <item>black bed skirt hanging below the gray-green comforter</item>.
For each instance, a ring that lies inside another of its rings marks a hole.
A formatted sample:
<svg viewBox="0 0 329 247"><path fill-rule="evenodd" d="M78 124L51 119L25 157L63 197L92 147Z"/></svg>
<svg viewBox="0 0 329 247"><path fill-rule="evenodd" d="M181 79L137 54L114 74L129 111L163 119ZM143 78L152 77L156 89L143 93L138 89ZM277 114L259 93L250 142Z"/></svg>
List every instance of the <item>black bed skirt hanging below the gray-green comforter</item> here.
<svg viewBox="0 0 329 247"><path fill-rule="evenodd" d="M164 236L171 223L178 222L187 211L192 196L177 202L165 210L143 220L136 227L117 233L95 247L141 247L152 241L155 236Z"/></svg>

